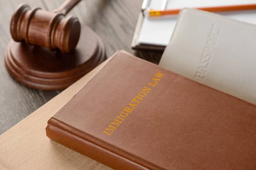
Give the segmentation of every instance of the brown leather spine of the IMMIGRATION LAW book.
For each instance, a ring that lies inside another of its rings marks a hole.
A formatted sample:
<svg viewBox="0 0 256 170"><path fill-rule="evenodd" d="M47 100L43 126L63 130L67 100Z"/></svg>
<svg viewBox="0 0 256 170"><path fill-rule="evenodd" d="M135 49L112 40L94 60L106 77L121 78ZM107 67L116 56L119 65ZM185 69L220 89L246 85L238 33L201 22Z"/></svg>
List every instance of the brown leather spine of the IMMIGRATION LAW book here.
<svg viewBox="0 0 256 170"><path fill-rule="evenodd" d="M52 139L53 141L58 142L65 147L68 147L78 153L81 153L84 156L105 164L106 166L115 170L148 170L146 167L125 159L122 156L97 146L96 144L81 139L79 136L69 133L57 125L53 125L50 123L50 120L46 127L46 135L49 137L49 139Z"/></svg>

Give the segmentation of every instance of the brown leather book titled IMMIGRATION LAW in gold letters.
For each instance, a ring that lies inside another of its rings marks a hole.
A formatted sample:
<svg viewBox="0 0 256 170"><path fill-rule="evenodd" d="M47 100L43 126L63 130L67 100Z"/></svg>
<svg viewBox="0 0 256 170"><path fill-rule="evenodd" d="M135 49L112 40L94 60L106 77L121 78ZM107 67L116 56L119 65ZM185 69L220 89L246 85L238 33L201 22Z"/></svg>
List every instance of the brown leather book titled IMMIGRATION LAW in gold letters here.
<svg viewBox="0 0 256 170"><path fill-rule="evenodd" d="M255 105L125 51L49 119L46 132L116 170L256 169Z"/></svg>

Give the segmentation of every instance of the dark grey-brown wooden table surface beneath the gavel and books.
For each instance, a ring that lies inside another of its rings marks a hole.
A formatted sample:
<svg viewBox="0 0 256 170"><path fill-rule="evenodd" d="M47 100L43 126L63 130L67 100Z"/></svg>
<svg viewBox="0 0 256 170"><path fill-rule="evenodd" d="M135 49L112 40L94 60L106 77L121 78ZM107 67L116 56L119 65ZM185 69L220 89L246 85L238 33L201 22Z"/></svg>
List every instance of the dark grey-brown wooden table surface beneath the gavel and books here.
<svg viewBox="0 0 256 170"><path fill-rule="evenodd" d="M21 3L27 3L31 8L41 7L51 11L63 2L64 0L0 0L0 135L61 93L27 88L7 73L4 53L11 40L9 23L12 14ZM89 26L102 38L108 57L123 49L137 57L158 63L161 53L136 52L130 47L142 3L143 0L83 0L70 14L78 17L81 24Z"/></svg>

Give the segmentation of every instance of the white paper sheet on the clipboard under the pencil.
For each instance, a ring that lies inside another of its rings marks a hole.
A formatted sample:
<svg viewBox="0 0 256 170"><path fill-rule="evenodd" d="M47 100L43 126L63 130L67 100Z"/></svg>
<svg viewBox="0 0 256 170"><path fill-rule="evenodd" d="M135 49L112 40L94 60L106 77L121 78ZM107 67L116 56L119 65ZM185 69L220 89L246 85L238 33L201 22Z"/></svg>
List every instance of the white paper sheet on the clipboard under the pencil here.
<svg viewBox="0 0 256 170"><path fill-rule="evenodd" d="M149 0L149 8L161 9L164 0ZM256 0L167 0L166 9L196 8L209 6L229 6L254 4ZM236 20L256 25L256 10L221 13ZM138 41L142 44L168 45L175 28L177 16L145 17Z"/></svg>

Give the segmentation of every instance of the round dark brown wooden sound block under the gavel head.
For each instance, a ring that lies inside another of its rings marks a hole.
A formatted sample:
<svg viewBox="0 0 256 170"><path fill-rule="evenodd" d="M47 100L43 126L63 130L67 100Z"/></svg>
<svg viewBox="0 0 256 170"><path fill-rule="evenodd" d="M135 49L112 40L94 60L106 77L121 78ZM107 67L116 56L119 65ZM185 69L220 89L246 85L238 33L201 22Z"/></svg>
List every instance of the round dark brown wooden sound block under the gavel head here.
<svg viewBox="0 0 256 170"><path fill-rule="evenodd" d="M18 82L51 91L67 88L105 59L105 48L98 35L81 26L78 45L71 54L11 40L6 48L5 65Z"/></svg>

